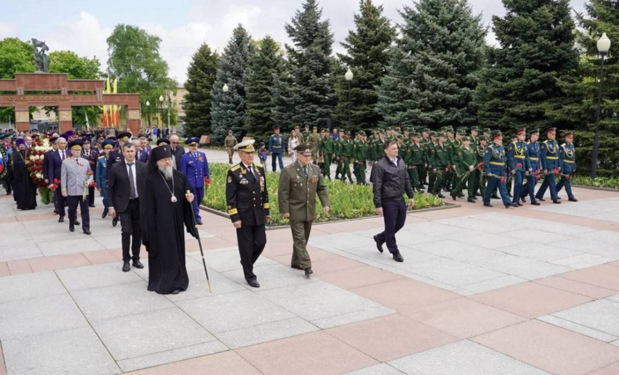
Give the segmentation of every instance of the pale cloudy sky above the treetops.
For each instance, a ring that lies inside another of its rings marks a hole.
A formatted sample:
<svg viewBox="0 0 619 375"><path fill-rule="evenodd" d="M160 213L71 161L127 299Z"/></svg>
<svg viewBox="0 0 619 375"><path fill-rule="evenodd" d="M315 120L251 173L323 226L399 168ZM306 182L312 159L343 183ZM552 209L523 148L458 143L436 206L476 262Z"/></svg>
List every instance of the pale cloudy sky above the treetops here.
<svg viewBox="0 0 619 375"><path fill-rule="evenodd" d="M170 66L170 76L184 82L191 56L206 41L212 49L223 50L232 29L240 22L254 39L271 35L288 42L284 24L301 5L302 0L172 0L172 1L88 1L56 0L7 1L2 5L0 38L45 40L50 50L71 50L82 56L97 56L105 68L106 38L116 24L132 24L162 39L160 52ZM571 0L574 10L582 11L586 0ZM384 14L400 21L397 9L412 0L374 0L383 4ZM481 13L490 24L492 15L503 15L500 0L469 0L473 11ZM358 0L321 1L322 15L331 20L335 33L335 51L341 52L339 41L354 27L353 12ZM494 42L489 33L488 43Z"/></svg>

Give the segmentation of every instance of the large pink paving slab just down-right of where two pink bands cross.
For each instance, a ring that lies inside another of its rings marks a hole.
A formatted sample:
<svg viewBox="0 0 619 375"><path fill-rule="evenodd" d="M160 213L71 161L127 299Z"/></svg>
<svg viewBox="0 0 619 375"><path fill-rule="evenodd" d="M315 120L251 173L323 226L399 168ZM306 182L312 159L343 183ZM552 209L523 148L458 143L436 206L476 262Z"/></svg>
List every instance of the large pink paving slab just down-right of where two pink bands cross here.
<svg viewBox="0 0 619 375"><path fill-rule="evenodd" d="M584 375L619 360L619 347L537 319L471 340L561 375Z"/></svg>

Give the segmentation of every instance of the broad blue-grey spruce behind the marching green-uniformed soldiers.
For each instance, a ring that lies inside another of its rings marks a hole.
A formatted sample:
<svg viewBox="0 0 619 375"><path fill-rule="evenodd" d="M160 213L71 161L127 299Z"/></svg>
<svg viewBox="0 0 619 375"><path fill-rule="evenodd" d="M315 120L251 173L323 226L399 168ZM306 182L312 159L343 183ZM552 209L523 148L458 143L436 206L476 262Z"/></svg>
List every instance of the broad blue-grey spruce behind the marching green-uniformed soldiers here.
<svg viewBox="0 0 619 375"><path fill-rule="evenodd" d="M474 124L486 34L481 15L467 0L420 0L399 13L402 38L390 51L376 106L383 125Z"/></svg>

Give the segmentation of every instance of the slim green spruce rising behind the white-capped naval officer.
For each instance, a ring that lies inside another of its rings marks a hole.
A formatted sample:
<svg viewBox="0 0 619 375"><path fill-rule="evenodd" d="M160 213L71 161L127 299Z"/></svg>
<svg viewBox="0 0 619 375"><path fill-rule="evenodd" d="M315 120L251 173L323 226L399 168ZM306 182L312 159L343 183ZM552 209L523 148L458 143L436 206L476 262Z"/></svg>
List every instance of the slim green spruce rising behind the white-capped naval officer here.
<svg viewBox="0 0 619 375"><path fill-rule="evenodd" d="M275 125L271 88L283 69L284 58L279 43L267 35L257 43L256 52L249 58L245 110L245 130L248 136L265 139L271 134Z"/></svg>

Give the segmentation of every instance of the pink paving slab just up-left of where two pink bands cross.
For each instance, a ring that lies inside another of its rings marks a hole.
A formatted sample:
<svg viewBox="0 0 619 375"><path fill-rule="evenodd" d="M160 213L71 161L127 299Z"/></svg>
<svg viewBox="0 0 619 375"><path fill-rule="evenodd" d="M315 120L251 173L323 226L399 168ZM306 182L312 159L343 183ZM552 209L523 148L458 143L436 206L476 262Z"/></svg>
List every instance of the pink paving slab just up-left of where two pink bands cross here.
<svg viewBox="0 0 619 375"><path fill-rule="evenodd" d="M350 291L397 311L425 308L444 301L462 298L461 295L451 291L410 278L400 278L390 282L354 288Z"/></svg>

